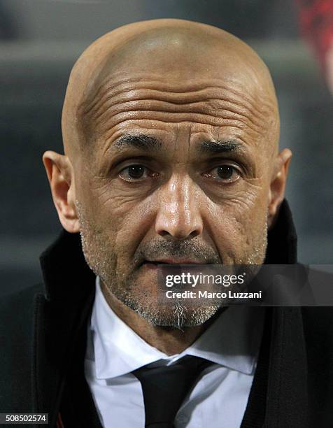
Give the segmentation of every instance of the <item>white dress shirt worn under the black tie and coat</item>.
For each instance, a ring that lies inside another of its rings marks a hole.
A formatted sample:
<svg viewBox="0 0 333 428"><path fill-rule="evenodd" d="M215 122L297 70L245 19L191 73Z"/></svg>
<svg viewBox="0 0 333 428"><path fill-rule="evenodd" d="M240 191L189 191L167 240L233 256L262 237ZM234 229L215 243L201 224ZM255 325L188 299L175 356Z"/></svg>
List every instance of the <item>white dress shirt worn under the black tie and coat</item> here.
<svg viewBox="0 0 333 428"><path fill-rule="evenodd" d="M101 425L143 428L141 383L131 373L146 364L173 364L185 355L214 364L205 369L176 415L176 428L239 428L257 362L263 310L230 306L189 348L168 356L143 341L112 311L96 281L88 324L85 377Z"/></svg>

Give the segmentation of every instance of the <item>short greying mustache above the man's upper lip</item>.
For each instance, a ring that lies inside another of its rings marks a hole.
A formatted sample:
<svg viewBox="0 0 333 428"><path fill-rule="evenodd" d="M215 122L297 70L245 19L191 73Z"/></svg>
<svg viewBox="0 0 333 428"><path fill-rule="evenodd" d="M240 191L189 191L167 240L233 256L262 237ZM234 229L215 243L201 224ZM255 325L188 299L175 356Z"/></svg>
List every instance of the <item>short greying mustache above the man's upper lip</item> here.
<svg viewBox="0 0 333 428"><path fill-rule="evenodd" d="M216 250L199 241L150 241L136 250L134 264L139 266L154 259L195 259L201 264L222 264Z"/></svg>

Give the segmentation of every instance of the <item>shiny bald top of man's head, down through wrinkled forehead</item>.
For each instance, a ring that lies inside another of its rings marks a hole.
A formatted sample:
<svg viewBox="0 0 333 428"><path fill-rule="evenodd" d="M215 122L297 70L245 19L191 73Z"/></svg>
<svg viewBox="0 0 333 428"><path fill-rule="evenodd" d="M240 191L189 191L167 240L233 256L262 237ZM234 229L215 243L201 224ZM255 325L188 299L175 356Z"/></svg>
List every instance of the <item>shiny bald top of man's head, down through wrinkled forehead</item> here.
<svg viewBox="0 0 333 428"><path fill-rule="evenodd" d="M66 155L92 148L126 120L142 119L248 126L270 152L277 150L278 106L267 66L239 38L206 24L136 22L80 56L62 114Z"/></svg>

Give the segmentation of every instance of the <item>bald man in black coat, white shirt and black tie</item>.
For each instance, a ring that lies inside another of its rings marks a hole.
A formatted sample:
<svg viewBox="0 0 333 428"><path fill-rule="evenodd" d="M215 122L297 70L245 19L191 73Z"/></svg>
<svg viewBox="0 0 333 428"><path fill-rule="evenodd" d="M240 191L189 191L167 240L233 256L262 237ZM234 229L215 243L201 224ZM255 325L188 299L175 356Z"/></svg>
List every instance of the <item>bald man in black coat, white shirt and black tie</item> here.
<svg viewBox="0 0 333 428"><path fill-rule="evenodd" d="M43 162L64 231L44 284L1 304L0 411L59 428L332 426L328 311L157 299L158 264L297 262L291 152L255 52L184 20L115 29L73 67L62 134Z"/></svg>

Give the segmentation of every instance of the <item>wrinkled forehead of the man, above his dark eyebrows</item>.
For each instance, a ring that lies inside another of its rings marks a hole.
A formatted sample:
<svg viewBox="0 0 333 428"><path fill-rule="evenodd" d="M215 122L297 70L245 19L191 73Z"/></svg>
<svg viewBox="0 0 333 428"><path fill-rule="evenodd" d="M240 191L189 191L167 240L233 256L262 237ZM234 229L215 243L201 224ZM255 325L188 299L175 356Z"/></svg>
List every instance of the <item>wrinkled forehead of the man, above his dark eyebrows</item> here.
<svg viewBox="0 0 333 428"><path fill-rule="evenodd" d="M267 117L274 105L253 96L239 82L227 83L200 79L176 85L151 75L106 79L80 108L83 134L90 141L101 137L108 144L119 131L133 127L164 130L175 137L185 127L185 139L201 132L217 139L233 136L245 143L260 141L269 131Z"/></svg>

